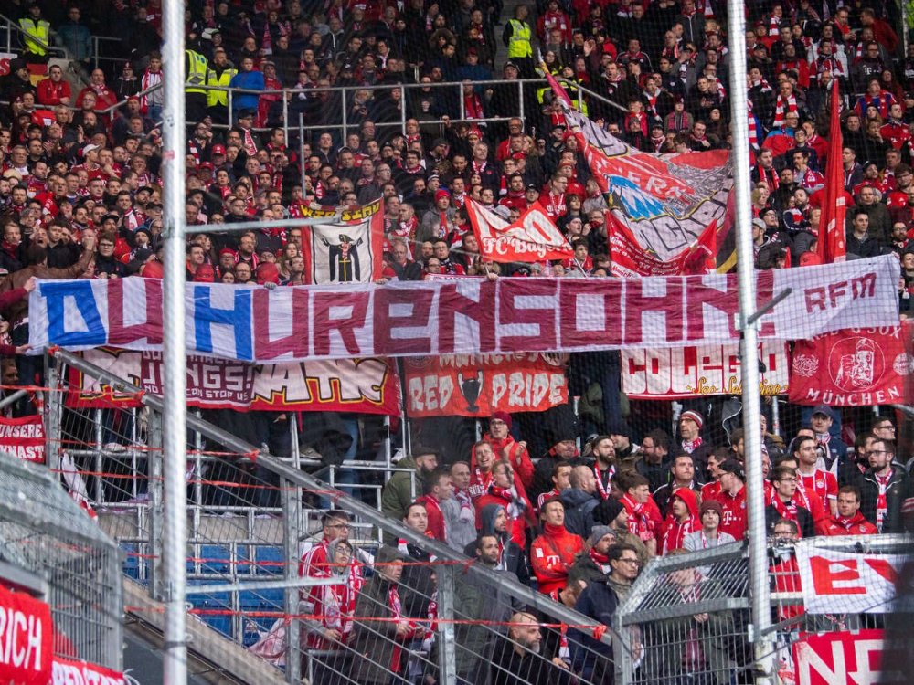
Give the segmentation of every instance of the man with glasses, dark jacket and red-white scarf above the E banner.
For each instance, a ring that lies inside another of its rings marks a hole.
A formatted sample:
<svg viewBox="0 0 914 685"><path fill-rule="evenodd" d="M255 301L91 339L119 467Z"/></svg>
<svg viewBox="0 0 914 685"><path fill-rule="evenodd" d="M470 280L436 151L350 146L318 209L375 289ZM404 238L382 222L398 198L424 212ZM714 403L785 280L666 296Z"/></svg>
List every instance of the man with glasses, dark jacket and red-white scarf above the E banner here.
<svg viewBox="0 0 914 685"><path fill-rule="evenodd" d="M901 502L908 488L908 476L895 463L895 443L876 439L869 451L869 469L857 481L860 511L879 532L903 532Z"/></svg>

